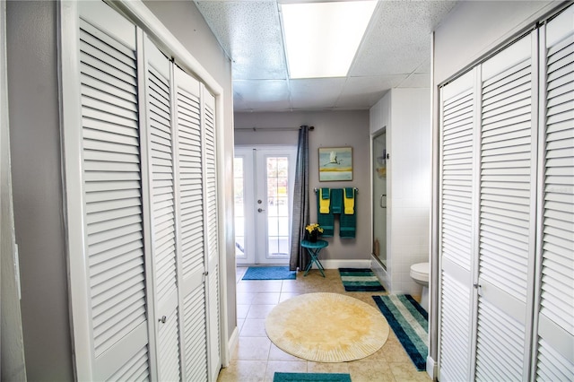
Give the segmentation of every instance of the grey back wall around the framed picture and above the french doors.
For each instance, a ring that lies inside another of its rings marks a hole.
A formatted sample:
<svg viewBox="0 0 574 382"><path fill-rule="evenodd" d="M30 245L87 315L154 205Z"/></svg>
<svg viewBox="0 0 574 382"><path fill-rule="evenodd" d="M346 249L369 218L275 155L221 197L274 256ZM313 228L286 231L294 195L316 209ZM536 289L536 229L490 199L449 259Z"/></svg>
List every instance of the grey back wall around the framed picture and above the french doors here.
<svg viewBox="0 0 574 382"><path fill-rule="evenodd" d="M297 144L297 131L246 131L242 127L315 126L309 132L309 183L313 187L357 187L357 234L355 239L340 239L338 219L335 235L327 238L329 247L321 251L326 266L337 266L337 260L370 259L370 138L369 111L316 111L288 113L236 113L236 144ZM353 179L345 182L318 181L318 148L352 146ZM317 199L310 190L311 222L317 221ZM344 266L344 265L342 265Z"/></svg>

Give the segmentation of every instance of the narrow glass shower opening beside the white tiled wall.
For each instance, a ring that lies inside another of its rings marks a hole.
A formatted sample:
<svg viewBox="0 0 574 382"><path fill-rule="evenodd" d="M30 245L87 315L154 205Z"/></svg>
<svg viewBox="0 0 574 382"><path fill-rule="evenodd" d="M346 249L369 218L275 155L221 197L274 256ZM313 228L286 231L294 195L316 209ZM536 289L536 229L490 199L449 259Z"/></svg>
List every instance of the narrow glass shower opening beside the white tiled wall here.
<svg viewBox="0 0 574 382"><path fill-rule="evenodd" d="M387 270L387 129L372 138L373 247L372 253Z"/></svg>

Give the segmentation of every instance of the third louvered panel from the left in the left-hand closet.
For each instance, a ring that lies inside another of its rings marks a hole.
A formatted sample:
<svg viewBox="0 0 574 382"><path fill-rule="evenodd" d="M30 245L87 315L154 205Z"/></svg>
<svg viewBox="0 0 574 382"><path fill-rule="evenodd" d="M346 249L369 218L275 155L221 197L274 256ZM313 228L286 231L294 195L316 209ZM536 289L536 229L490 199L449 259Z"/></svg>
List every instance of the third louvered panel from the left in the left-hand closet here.
<svg viewBox="0 0 574 382"><path fill-rule="evenodd" d="M182 341L185 380L207 380L204 174L200 84L175 68Z"/></svg>

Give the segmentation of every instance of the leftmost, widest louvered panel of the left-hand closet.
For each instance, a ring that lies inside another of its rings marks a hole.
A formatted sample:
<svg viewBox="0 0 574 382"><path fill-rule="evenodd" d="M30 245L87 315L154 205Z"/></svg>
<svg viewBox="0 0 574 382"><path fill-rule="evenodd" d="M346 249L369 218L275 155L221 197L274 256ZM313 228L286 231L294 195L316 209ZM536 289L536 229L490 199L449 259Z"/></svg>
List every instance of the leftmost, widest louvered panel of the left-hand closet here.
<svg viewBox="0 0 574 382"><path fill-rule="evenodd" d="M135 27L98 5L80 9L91 374L93 380L145 380L149 355ZM95 27L91 20L101 24Z"/></svg>

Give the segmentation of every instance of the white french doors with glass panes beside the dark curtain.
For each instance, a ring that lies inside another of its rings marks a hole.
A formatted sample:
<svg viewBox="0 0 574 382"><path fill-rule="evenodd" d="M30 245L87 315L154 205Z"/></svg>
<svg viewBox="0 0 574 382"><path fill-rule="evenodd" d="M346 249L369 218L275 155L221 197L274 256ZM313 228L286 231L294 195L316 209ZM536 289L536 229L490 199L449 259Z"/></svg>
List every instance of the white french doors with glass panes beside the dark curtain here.
<svg viewBox="0 0 574 382"><path fill-rule="evenodd" d="M297 148L235 148L235 253L239 265L287 264Z"/></svg>

